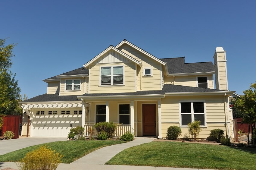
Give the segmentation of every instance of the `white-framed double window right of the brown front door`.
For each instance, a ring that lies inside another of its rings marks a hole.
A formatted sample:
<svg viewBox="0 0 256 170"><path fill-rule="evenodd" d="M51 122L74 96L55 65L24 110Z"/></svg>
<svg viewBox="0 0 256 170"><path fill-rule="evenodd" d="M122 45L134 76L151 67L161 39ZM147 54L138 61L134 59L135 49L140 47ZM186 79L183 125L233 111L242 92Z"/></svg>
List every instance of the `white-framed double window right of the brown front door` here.
<svg viewBox="0 0 256 170"><path fill-rule="evenodd" d="M205 101L180 101L180 126L187 126L192 121L201 121L206 126Z"/></svg>

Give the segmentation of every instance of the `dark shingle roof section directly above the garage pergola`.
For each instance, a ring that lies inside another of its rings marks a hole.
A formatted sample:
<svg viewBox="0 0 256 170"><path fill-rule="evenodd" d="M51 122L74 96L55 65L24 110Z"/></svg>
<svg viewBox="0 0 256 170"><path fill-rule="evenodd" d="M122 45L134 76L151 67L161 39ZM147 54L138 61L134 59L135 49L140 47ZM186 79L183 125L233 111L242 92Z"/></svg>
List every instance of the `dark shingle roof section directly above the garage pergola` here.
<svg viewBox="0 0 256 170"><path fill-rule="evenodd" d="M76 101L77 95L60 96L59 94L42 94L22 102L58 102L58 101Z"/></svg>

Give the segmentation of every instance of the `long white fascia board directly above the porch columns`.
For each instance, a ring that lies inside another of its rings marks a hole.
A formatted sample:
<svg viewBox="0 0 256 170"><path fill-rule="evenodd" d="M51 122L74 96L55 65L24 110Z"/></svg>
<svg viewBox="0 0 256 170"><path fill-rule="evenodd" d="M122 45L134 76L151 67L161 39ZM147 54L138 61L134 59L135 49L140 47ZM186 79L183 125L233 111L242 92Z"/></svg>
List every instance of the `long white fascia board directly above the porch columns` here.
<svg viewBox="0 0 256 170"><path fill-rule="evenodd" d="M77 96L77 99L111 99L118 98L118 99L130 99L130 98L164 98L164 94L146 94L146 95L116 95L116 96Z"/></svg>

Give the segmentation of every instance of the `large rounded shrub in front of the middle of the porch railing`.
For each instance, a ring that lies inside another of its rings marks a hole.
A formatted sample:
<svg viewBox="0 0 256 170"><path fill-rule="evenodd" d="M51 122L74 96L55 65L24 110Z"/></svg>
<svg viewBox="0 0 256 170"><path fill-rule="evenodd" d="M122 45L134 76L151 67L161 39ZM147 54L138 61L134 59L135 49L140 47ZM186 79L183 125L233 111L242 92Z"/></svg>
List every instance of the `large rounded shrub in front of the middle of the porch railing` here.
<svg viewBox="0 0 256 170"><path fill-rule="evenodd" d="M94 125L98 134L106 132L108 138L111 138L113 133L117 130L117 125L111 122L98 122Z"/></svg>

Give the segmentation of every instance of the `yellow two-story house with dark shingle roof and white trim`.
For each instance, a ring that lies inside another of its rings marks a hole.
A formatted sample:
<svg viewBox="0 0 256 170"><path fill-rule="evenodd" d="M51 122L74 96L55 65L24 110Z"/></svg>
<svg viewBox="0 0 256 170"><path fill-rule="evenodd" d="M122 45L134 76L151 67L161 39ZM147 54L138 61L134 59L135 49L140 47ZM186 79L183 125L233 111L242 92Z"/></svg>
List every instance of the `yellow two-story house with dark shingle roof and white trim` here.
<svg viewBox="0 0 256 170"><path fill-rule="evenodd" d="M20 102L22 135L67 137L80 125L88 136L95 123L113 121L115 136L130 131L164 138L169 126L178 125L183 137L188 123L199 120L199 138L215 128L233 137L226 51L217 47L213 58L214 64L159 59L124 39L82 68L43 80L46 94Z"/></svg>

